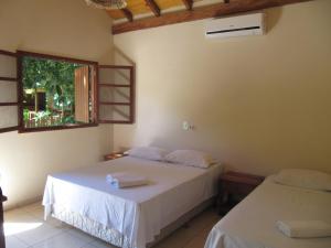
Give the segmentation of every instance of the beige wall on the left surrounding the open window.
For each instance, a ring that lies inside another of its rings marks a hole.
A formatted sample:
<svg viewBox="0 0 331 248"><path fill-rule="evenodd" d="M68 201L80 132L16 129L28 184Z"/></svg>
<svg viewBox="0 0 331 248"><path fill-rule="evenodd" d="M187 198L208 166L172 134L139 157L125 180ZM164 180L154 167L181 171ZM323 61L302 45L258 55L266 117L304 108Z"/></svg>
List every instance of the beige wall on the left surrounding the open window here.
<svg viewBox="0 0 331 248"><path fill-rule="evenodd" d="M0 48L111 62L111 20L84 0L0 0ZM7 207L43 193L46 175L84 166L111 150L110 126L0 133L0 173Z"/></svg>

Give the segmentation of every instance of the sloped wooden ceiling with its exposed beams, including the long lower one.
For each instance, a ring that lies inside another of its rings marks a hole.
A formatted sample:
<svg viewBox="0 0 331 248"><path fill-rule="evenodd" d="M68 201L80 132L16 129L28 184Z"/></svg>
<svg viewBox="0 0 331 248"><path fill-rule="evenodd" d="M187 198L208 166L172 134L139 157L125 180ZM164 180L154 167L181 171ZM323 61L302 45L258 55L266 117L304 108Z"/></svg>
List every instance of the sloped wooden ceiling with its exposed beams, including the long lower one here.
<svg viewBox="0 0 331 248"><path fill-rule="evenodd" d="M113 34L119 34L306 1L313 0L127 0L127 8L107 12Z"/></svg>

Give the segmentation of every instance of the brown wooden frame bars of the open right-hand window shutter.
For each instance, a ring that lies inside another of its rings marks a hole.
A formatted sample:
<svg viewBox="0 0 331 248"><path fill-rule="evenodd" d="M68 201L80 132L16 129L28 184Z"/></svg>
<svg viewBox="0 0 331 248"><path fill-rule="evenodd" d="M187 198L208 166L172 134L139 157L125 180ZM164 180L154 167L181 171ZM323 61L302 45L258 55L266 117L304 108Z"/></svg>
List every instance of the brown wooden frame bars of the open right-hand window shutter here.
<svg viewBox="0 0 331 248"><path fill-rule="evenodd" d="M136 89L135 89L135 66L129 66L129 65L99 65L99 69L103 68L114 68L114 69L129 69L130 71L130 84L129 85L124 85L124 84L116 84L116 82L98 82L98 90L102 87L127 87L130 88L130 101L129 103L114 103L114 101L98 101L98 109L102 105L113 105L113 106L129 106L130 107L130 117L129 120L102 120L100 115L98 112L98 122L99 123L134 123L135 122L135 117L136 117ZM98 72L99 72L98 69Z"/></svg>

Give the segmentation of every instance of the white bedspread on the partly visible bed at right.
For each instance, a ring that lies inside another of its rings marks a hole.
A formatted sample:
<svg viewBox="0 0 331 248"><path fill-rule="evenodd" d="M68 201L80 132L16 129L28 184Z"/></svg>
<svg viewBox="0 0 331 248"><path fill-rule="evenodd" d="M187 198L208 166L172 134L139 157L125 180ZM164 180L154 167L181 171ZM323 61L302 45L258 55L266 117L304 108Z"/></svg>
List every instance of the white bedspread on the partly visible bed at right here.
<svg viewBox="0 0 331 248"><path fill-rule="evenodd" d="M279 219L331 224L331 192L285 186L269 176L211 230L205 248L331 248L331 238L289 238Z"/></svg>

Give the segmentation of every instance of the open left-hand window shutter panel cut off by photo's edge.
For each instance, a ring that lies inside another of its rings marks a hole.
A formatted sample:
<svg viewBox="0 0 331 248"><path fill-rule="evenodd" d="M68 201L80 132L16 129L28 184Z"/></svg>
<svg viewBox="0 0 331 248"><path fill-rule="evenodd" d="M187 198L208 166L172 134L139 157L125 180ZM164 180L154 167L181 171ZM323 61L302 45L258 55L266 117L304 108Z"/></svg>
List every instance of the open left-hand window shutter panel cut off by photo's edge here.
<svg viewBox="0 0 331 248"><path fill-rule="evenodd" d="M0 132L18 130L17 54L0 50Z"/></svg>

